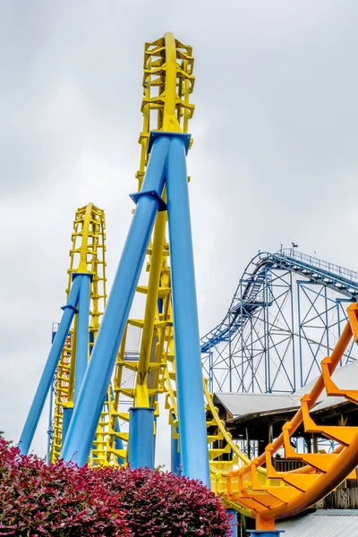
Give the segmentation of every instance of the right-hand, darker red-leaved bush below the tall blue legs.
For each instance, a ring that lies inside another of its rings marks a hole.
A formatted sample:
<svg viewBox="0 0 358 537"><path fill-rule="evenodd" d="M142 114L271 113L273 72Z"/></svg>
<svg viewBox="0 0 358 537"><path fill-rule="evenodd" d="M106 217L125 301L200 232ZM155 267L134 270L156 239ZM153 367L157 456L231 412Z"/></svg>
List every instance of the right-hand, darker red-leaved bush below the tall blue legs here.
<svg viewBox="0 0 358 537"><path fill-rule="evenodd" d="M100 472L107 493L119 492L125 518L135 536L228 534L225 507L198 481L148 468L104 468Z"/></svg>

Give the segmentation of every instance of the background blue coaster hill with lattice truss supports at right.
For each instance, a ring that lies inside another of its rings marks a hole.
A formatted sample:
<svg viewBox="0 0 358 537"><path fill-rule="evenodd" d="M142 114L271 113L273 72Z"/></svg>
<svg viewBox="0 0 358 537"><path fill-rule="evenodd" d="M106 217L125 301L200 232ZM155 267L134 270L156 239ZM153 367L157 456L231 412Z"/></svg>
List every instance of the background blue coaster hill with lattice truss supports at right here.
<svg viewBox="0 0 358 537"><path fill-rule="evenodd" d="M293 392L320 371L358 299L358 272L296 251L259 252L224 320L201 338L213 391ZM356 346L341 365L358 358Z"/></svg>

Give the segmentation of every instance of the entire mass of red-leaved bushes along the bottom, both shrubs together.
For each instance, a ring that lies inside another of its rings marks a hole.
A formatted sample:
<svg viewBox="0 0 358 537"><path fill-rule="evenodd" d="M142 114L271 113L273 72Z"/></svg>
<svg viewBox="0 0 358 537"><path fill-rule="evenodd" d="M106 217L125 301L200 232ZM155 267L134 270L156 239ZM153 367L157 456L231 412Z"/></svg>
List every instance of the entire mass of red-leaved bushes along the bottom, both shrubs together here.
<svg viewBox="0 0 358 537"><path fill-rule="evenodd" d="M0 535L225 537L220 499L158 470L46 465L0 438Z"/></svg>

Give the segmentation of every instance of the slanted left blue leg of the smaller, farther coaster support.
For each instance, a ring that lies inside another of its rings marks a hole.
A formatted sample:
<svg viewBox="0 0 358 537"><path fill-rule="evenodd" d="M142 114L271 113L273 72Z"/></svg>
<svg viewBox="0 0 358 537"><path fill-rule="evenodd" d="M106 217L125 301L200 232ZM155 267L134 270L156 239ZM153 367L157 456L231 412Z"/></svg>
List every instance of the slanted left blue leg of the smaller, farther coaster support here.
<svg viewBox="0 0 358 537"><path fill-rule="evenodd" d="M71 328L73 315L76 312L80 286L81 277L78 277L72 283L68 301L63 307L64 313L57 329L54 343L51 345L51 350L48 354L44 371L38 383L38 389L36 390L36 394L30 407L29 415L21 432L19 447L22 455L27 455L29 453L30 445L34 437L35 430L38 426L38 420L44 408L47 393L51 386L52 379L55 375L55 369L64 348L64 342Z"/></svg>

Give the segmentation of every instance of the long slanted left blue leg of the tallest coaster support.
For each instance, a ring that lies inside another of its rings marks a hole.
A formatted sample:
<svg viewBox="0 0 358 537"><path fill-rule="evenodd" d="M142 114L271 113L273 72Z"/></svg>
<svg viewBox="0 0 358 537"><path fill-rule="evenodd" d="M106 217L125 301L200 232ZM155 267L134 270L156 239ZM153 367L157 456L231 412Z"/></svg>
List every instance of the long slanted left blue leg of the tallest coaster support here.
<svg viewBox="0 0 358 537"><path fill-rule="evenodd" d="M62 456L85 465L95 435L106 390L115 366L133 295L141 275L150 234L165 181L169 138L159 136L153 143L149 166L132 218L124 251L107 302L90 363L81 385Z"/></svg>

